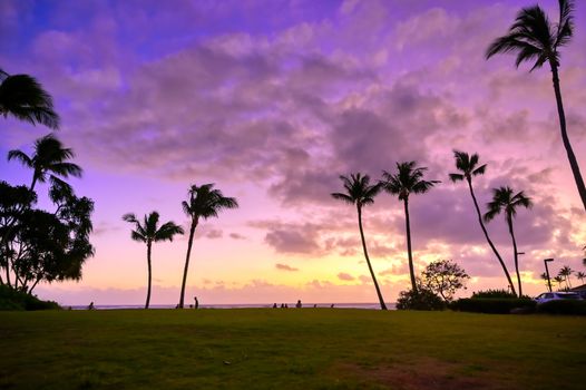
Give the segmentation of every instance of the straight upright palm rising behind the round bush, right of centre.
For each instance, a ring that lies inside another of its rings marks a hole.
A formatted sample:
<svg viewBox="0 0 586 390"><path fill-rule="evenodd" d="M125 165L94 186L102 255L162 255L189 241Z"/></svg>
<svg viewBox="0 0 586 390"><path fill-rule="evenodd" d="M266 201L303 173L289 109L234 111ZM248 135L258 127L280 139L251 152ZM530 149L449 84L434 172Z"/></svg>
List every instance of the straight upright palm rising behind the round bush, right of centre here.
<svg viewBox="0 0 586 390"><path fill-rule="evenodd" d="M417 167L416 162L397 163L397 173L390 174L383 170L383 187L393 195L399 196L399 201L403 201L404 220L407 231L407 254L409 257L409 273L411 275L411 289L417 293L416 272L413 269L413 255L411 251L411 226L409 223L409 195L424 194L431 189L439 181L423 181L423 173L426 167Z"/></svg>

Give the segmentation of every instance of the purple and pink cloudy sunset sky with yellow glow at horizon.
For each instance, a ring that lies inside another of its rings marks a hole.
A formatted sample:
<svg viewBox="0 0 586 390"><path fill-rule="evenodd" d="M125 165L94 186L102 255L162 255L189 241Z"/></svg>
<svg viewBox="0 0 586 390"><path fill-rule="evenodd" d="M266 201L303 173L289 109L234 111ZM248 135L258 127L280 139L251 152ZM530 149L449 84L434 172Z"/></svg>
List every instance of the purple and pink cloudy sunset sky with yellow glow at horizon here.
<svg viewBox="0 0 586 390"><path fill-rule="evenodd" d="M355 208L330 196L340 175L372 181L397 162L441 181L410 199L416 272L452 260L471 276L462 295L506 289L453 149L488 164L473 185L481 205L508 185L534 201L515 220L525 291L545 290L543 260L582 265L585 212L559 135L547 68L485 60L506 33L515 1L28 1L0 2L0 67L35 76L61 117L58 137L96 203L96 254L79 282L39 285L62 304L140 304L146 246L125 213L158 211L188 226L191 185L215 183L238 209L201 223L186 300L202 304L375 302ZM540 0L557 18L557 1ZM586 4L561 49L568 133L585 168ZM4 119L0 155L49 133ZM0 158L1 178L31 173ZM586 172L585 172L586 174ZM39 186L40 192L47 187ZM381 194L363 214L385 301L409 287L402 204ZM505 218L488 224L514 272ZM153 251L152 303L178 302L186 237ZM573 280L578 284L577 280Z"/></svg>

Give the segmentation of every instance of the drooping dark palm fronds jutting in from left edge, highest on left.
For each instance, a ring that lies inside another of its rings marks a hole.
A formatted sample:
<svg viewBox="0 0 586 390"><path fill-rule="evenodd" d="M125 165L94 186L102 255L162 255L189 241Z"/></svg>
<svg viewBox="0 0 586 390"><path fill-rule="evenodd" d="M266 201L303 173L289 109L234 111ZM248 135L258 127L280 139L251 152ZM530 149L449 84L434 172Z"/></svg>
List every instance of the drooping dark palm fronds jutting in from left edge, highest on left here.
<svg viewBox="0 0 586 390"><path fill-rule="evenodd" d="M51 96L29 75L9 75L0 69L0 115L8 115L32 125L59 127Z"/></svg>

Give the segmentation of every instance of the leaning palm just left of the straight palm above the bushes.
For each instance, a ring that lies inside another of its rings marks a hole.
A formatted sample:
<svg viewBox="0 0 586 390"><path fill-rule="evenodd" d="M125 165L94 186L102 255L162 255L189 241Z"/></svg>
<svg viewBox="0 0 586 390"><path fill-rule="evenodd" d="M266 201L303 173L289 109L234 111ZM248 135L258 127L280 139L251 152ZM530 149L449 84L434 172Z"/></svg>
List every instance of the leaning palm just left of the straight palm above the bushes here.
<svg viewBox="0 0 586 390"><path fill-rule="evenodd" d="M358 212L358 227L360 231L360 238L362 240L362 250L364 251L364 257L367 259L367 264L369 265L370 275L372 282L374 283L374 289L377 290L377 295L379 296L379 302L381 304L381 310L387 310L387 304L379 289L379 283L377 282L377 276L374 271L372 271L372 264L370 263L369 251L367 250L367 242L364 240L364 231L362 228L362 208L367 205L374 203L374 196L377 196L382 187L380 184L370 185L370 176L361 175L360 173L351 174L348 176L340 176L344 185L345 193L332 193L334 199L339 199L357 206Z"/></svg>

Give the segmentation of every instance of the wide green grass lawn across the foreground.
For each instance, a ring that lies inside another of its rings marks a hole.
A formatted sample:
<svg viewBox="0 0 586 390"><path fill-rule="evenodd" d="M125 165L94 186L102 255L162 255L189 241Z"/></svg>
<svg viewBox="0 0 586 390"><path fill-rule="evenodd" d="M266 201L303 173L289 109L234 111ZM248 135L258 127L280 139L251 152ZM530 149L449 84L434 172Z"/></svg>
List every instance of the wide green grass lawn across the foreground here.
<svg viewBox="0 0 586 390"><path fill-rule="evenodd" d="M0 312L0 389L584 389L585 365L584 318Z"/></svg>

